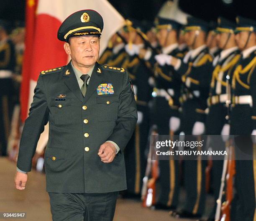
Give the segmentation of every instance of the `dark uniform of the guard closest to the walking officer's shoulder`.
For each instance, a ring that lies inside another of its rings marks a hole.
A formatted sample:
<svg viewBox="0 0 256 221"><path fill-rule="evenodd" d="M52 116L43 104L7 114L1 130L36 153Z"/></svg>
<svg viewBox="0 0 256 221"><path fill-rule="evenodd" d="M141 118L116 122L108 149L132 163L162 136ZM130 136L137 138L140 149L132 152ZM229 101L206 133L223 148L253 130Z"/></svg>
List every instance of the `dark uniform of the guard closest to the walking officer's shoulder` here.
<svg viewBox="0 0 256 221"><path fill-rule="evenodd" d="M135 131L125 150L127 176L127 195L140 196L142 178L146 170L146 145L148 142L149 111L148 101L151 99L151 87L148 84L148 69L138 56L127 57L123 67L128 71L133 82L137 109L143 114L142 122L136 124ZM125 196L125 195L124 195Z"/></svg>

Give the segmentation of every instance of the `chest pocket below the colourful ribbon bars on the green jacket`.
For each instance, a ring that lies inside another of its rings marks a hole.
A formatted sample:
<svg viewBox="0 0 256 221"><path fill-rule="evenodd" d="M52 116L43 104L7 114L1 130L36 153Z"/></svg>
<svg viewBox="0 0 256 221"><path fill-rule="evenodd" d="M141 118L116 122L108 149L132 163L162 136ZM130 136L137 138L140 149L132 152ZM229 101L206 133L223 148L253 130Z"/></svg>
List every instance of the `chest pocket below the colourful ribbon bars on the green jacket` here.
<svg viewBox="0 0 256 221"><path fill-rule="evenodd" d="M113 121L118 118L118 97L100 95L96 97L97 119L99 122Z"/></svg>

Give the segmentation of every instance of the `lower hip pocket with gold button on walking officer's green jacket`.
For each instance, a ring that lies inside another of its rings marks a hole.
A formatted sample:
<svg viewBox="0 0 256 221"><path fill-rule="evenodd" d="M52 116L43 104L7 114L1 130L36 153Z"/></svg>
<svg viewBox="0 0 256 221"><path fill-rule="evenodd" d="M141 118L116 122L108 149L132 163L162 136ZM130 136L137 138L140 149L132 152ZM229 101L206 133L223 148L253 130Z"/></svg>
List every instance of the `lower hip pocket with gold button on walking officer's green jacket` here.
<svg viewBox="0 0 256 221"><path fill-rule="evenodd" d="M66 169L66 150L62 148L46 147L45 164L46 170L62 171Z"/></svg>

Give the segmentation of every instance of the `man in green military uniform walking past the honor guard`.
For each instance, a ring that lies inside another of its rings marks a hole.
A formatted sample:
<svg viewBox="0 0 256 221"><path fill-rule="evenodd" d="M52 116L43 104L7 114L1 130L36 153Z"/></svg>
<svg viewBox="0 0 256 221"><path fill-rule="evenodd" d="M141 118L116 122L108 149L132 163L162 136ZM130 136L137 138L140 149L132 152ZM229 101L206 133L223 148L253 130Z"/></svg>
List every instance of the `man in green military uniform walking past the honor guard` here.
<svg viewBox="0 0 256 221"><path fill-rule="evenodd" d="M29 172L49 121L46 191L54 221L112 221L118 191L126 189L123 150L137 108L125 69L96 62L102 29L94 10L64 20L58 38L72 61L41 72L23 128L17 170ZM15 176L19 190L27 181L21 171Z"/></svg>

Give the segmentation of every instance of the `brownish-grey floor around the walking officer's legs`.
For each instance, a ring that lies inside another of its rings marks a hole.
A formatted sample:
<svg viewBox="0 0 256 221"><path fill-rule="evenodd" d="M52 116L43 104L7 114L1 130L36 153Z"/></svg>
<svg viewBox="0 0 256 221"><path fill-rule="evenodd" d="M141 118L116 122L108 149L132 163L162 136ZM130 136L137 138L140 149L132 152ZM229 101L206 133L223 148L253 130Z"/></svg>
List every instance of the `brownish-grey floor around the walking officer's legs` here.
<svg viewBox="0 0 256 221"><path fill-rule="evenodd" d="M51 221L49 196L45 191L45 175L36 171L28 174L25 191L14 187L16 165L6 157L0 157L0 212L26 212L26 219L0 218L0 221ZM182 191L181 200L184 199ZM209 197L207 205L212 204ZM209 212L209 206L206 213ZM187 221L185 219L179 219ZM143 208L139 201L118 199L114 221L178 221L171 218L166 211L153 211Z"/></svg>

